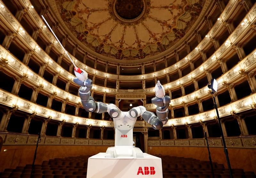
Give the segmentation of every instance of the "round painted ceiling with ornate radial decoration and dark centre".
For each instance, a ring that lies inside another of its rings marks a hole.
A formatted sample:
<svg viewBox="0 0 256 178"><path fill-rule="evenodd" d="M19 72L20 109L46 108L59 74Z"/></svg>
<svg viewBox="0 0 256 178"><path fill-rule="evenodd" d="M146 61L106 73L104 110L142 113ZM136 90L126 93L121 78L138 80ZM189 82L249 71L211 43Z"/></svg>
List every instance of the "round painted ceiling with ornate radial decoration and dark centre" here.
<svg viewBox="0 0 256 178"><path fill-rule="evenodd" d="M55 0L65 25L95 52L116 59L147 58L177 43L205 0Z"/></svg>

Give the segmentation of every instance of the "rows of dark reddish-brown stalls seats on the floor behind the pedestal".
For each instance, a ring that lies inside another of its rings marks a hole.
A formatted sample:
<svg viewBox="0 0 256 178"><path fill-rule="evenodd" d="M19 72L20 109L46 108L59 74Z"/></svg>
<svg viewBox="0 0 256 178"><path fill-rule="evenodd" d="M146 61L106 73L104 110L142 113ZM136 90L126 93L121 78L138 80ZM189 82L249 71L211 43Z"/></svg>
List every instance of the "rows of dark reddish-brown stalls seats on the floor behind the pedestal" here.
<svg viewBox="0 0 256 178"><path fill-rule="evenodd" d="M192 158L156 155L162 158L163 178L212 178L209 161ZM86 178L87 161L90 156L68 157L43 161L35 165L33 178ZM30 178L32 165L5 169L0 178ZM228 169L222 164L213 163L215 178L229 178ZM256 178L254 172L233 169L234 178Z"/></svg>

